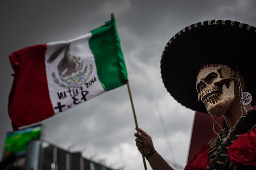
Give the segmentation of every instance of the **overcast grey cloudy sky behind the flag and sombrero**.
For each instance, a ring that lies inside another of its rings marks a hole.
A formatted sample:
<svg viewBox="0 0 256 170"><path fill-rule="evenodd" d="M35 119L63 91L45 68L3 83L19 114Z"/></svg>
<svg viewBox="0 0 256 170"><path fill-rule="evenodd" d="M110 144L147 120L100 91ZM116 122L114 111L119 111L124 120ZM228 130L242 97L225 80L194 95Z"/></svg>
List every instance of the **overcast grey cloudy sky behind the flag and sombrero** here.
<svg viewBox="0 0 256 170"><path fill-rule="evenodd" d="M12 130L7 101L14 71L8 56L23 47L76 38L114 13L138 126L151 135L162 157L184 167L194 111L166 91L160 75L162 50L174 34L196 22L231 19L256 26L255 9L255 0L1 0L0 153L5 133ZM85 158L114 169L144 169L127 85L41 123L43 140L82 150ZM148 163L147 168L151 170Z"/></svg>

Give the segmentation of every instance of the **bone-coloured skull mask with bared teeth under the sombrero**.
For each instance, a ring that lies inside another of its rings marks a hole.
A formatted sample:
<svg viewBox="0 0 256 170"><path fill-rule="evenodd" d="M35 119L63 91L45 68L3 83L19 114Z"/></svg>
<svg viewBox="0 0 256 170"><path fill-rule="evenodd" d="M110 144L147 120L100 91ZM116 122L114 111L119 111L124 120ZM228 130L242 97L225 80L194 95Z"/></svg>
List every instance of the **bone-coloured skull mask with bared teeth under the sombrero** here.
<svg viewBox="0 0 256 170"><path fill-rule="evenodd" d="M197 76L198 101L202 101L208 113L216 116L225 114L234 101L236 72L222 64L208 64Z"/></svg>

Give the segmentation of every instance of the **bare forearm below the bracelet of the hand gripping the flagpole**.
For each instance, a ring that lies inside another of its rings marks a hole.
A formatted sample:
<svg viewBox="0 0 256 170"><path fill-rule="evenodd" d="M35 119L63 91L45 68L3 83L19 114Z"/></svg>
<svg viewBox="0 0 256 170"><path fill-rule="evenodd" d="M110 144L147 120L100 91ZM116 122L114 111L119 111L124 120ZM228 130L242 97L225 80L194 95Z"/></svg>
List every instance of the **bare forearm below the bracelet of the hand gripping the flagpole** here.
<svg viewBox="0 0 256 170"><path fill-rule="evenodd" d="M150 155L147 160L153 170L174 170L157 152Z"/></svg>

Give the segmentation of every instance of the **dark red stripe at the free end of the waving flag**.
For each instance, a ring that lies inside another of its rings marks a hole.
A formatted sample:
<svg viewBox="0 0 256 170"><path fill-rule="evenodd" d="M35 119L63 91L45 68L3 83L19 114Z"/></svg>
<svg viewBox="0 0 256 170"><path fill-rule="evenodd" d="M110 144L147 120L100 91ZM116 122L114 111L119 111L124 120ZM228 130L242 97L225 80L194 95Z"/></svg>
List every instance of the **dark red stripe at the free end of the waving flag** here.
<svg viewBox="0 0 256 170"><path fill-rule="evenodd" d="M9 94L8 112L14 130L54 115L44 61L46 49L46 44L34 45L9 56L14 80Z"/></svg>

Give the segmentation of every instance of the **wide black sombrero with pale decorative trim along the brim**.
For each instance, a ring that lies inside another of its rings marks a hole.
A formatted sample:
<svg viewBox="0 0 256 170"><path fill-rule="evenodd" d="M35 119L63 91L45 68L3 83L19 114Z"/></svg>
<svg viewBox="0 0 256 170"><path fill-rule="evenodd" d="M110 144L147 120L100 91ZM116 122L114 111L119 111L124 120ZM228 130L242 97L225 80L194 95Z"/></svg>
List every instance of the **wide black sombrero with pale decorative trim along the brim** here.
<svg viewBox="0 0 256 170"><path fill-rule="evenodd" d="M256 105L256 28L230 20L194 23L167 42L161 57L161 76L177 102L207 113L197 100L196 79L203 64L226 64L239 70Z"/></svg>

